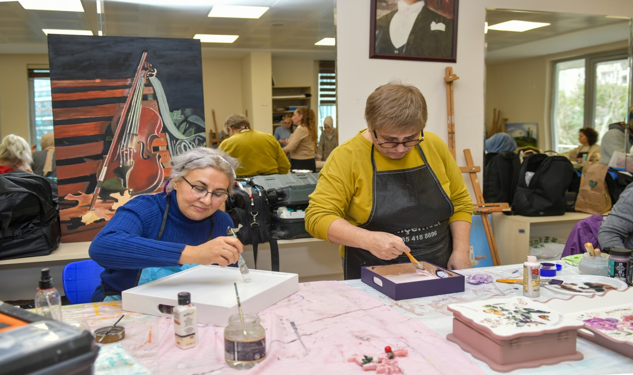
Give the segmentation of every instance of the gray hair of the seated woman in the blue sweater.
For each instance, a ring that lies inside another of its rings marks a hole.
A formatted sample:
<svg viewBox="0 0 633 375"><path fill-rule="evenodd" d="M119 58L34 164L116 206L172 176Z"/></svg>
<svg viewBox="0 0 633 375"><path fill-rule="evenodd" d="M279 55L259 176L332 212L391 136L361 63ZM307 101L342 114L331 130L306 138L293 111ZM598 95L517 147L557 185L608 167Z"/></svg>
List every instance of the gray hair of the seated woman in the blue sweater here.
<svg viewBox="0 0 633 375"><path fill-rule="evenodd" d="M239 167L239 161L228 153L215 148L196 147L173 157L172 165L170 181L165 187L167 193L173 190L173 182L180 181L190 170L211 167L229 177L228 193L233 194L235 168Z"/></svg>

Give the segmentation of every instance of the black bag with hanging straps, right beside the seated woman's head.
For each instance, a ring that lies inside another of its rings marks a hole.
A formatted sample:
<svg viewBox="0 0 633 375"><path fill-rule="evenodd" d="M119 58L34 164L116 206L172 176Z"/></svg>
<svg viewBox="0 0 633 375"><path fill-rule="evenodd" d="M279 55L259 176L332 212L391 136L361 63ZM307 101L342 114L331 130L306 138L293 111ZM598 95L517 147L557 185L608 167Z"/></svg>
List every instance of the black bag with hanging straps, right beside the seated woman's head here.
<svg viewBox="0 0 633 375"><path fill-rule="evenodd" d="M257 265L258 244L270 242L270 261L272 271L279 271L279 246L277 239L270 235L272 222L270 205L263 187L251 186L249 195L239 187L234 188L234 195L227 199L226 210L233 220L235 228L242 224L237 238L244 245L253 245L253 258Z"/></svg>

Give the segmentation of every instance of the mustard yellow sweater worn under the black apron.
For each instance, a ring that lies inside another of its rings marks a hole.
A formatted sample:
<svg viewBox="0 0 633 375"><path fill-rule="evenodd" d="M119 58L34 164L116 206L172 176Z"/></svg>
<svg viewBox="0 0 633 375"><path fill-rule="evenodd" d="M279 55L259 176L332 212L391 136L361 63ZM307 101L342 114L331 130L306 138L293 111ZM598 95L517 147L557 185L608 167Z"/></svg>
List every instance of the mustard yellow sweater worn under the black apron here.
<svg viewBox="0 0 633 375"><path fill-rule="evenodd" d="M306 230L316 238L329 241L327 230L337 218L344 218L352 225L365 223L369 218L373 197L372 143L361 133L335 148L319 173L305 217ZM471 222L472 199L448 147L436 134L425 132L424 137L420 143L422 151L453 202L454 213L449 223ZM417 148L411 149L400 160L387 158L377 150L374 157L377 170L406 169L424 164Z"/></svg>

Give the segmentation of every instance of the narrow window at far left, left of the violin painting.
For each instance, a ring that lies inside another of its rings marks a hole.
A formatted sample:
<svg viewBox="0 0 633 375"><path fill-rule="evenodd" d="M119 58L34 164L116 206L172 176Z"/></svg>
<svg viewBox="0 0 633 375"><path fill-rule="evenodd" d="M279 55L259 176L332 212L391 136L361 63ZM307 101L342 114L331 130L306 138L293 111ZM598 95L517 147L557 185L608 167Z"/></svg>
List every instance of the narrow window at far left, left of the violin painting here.
<svg viewBox="0 0 633 375"><path fill-rule="evenodd" d="M53 102L51 101L51 78L48 70L29 69L30 92L29 133L30 143L40 150L40 140L46 133L53 133Z"/></svg>

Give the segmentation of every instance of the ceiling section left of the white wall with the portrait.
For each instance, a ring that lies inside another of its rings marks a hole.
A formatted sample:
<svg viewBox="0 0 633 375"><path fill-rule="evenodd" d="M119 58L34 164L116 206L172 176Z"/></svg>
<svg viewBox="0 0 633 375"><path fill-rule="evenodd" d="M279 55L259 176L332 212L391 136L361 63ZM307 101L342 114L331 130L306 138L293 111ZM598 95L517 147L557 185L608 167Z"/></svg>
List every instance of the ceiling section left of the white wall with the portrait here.
<svg viewBox="0 0 633 375"><path fill-rule="evenodd" d="M54 0L50 0L54 1ZM335 47L314 45L334 37L335 0L104 0L104 35L192 38L197 33L239 35L232 44L203 43L203 51L234 58L249 51L274 57L334 59ZM26 10L0 2L0 53L46 53L43 28L99 31L96 1L82 0L84 13ZM166 5L177 3L176 6ZM268 6L261 18L209 18L213 4ZM159 5L156 5L159 4Z"/></svg>

